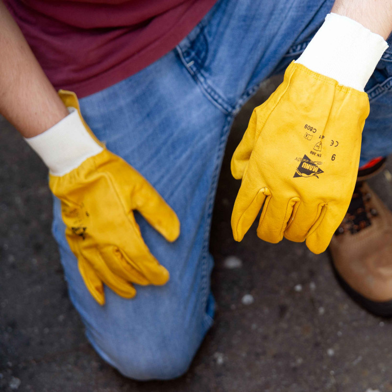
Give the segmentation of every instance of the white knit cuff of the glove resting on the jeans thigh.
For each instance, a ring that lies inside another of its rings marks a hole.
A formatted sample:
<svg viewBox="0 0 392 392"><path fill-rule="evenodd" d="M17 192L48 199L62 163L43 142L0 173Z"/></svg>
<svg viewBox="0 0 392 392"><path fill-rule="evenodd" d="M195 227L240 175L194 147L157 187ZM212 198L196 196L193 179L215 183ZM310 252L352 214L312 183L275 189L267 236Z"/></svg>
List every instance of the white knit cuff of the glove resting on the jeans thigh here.
<svg viewBox="0 0 392 392"><path fill-rule="evenodd" d="M61 176L77 168L83 161L103 150L84 127L77 110L47 131L25 138L28 145L42 158L53 175Z"/></svg>

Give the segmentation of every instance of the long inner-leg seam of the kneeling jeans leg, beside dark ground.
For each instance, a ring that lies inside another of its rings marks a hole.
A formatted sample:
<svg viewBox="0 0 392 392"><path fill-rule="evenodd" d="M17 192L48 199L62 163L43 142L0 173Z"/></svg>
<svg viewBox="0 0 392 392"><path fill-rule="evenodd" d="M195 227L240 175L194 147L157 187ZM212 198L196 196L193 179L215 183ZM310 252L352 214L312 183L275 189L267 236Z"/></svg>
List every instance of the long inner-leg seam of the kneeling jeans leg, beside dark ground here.
<svg viewBox="0 0 392 392"><path fill-rule="evenodd" d="M215 201L215 191L218 185L219 173L221 168L221 157L224 152L225 139L226 135L230 129L230 125L233 121L233 116L226 117L226 123L223 125L221 131L221 138L218 146L218 153L215 158L215 167L212 176L212 181L210 185L210 190L207 198L207 206L206 206L206 222L205 222L205 231L204 231L204 239L203 239L203 248L202 248L202 266L201 266L201 298L202 298L202 309L204 312L204 322L207 326L211 326L213 319L206 313L207 300L209 295L208 290L208 273L209 269L207 268L208 262L208 253L209 253L209 244L210 244L210 232L211 232L211 220L212 213L214 208Z"/></svg>

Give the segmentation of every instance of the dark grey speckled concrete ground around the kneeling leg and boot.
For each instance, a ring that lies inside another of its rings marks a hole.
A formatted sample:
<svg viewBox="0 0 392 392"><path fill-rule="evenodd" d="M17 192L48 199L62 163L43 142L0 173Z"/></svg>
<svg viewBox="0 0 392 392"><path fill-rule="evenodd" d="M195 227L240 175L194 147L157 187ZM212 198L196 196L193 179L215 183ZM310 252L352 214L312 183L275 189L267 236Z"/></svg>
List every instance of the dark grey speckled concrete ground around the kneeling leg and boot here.
<svg viewBox="0 0 392 392"><path fill-rule="evenodd" d="M240 184L230 175L230 157L269 87L240 113L226 149L211 236L215 325L189 372L168 382L128 380L87 343L50 234L47 170L0 122L1 391L392 391L392 322L347 297L328 253L264 243L255 227L240 244L232 238ZM388 174L371 183L392 207Z"/></svg>

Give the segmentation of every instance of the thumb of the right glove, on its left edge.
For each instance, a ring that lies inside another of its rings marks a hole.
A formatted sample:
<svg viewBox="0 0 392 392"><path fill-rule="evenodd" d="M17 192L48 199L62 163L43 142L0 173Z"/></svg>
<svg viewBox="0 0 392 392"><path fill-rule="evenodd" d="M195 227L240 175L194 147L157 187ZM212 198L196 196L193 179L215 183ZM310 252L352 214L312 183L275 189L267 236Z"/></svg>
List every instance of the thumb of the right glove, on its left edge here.
<svg viewBox="0 0 392 392"><path fill-rule="evenodd" d="M256 109L254 109L244 136L231 158L231 174L236 179L243 178L245 167L252 153L255 143L256 123L257 114Z"/></svg>

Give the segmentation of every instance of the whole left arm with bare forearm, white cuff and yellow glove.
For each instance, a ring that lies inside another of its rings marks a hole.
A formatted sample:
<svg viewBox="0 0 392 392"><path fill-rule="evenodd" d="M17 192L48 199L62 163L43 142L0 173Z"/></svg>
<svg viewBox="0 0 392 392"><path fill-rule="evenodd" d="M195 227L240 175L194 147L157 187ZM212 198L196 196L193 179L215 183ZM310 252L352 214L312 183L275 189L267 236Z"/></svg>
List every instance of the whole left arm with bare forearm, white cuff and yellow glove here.
<svg viewBox="0 0 392 392"><path fill-rule="evenodd" d="M56 93L2 2L0 25L0 113L49 168L49 187L61 201L64 234L86 287L103 305L104 284L124 298L136 294L132 283L165 284L169 272L144 243L133 210L171 242L180 230L175 212L97 139L76 95Z"/></svg>

